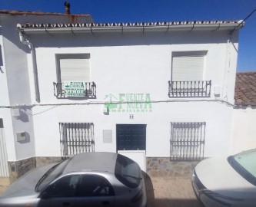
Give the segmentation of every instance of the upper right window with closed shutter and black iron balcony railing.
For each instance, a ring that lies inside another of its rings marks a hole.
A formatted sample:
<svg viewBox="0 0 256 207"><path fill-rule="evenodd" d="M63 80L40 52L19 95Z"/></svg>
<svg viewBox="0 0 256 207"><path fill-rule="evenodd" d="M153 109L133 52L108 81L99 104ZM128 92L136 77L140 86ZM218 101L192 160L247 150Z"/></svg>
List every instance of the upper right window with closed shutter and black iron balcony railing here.
<svg viewBox="0 0 256 207"><path fill-rule="evenodd" d="M211 81L204 81L205 51L172 54L169 97L210 97Z"/></svg>

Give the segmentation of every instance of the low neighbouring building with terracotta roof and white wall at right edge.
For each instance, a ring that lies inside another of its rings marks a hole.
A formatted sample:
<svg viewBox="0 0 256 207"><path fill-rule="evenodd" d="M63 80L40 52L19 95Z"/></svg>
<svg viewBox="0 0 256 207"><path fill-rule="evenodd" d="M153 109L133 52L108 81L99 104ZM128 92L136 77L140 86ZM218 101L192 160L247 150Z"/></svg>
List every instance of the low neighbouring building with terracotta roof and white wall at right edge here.
<svg viewBox="0 0 256 207"><path fill-rule="evenodd" d="M256 72L237 74L234 104L233 152L256 148Z"/></svg>

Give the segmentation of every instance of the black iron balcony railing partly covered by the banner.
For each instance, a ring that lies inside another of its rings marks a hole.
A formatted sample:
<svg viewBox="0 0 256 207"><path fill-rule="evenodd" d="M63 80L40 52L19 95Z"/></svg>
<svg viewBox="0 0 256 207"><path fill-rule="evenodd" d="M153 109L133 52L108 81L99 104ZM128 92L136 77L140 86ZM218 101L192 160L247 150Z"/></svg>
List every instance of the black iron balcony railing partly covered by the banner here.
<svg viewBox="0 0 256 207"><path fill-rule="evenodd" d="M65 93L64 83L53 83L54 87L54 95L58 98L67 98L67 94ZM85 94L84 98L96 98L96 84L95 82L85 82ZM73 96L74 97L74 96ZM79 96L81 97L81 96Z"/></svg>

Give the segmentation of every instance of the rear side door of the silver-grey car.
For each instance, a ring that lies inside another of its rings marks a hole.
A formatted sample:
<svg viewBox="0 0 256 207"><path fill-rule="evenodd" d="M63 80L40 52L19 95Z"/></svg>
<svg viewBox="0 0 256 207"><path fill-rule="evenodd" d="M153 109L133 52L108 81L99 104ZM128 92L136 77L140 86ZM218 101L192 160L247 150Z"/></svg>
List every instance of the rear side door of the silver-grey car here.
<svg viewBox="0 0 256 207"><path fill-rule="evenodd" d="M115 206L115 192L103 176L84 174L78 183L76 207Z"/></svg>

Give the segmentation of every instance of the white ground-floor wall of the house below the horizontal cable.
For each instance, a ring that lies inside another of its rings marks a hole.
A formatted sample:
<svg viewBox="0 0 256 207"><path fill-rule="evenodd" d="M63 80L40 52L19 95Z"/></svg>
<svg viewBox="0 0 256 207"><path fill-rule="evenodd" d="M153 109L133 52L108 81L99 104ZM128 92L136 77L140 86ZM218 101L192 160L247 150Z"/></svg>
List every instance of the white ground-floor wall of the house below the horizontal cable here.
<svg viewBox="0 0 256 207"><path fill-rule="evenodd" d="M205 121L204 156L231 151L232 108L219 103L152 104L152 113L102 113L101 105L35 107L35 150L37 156L60 156L60 122L95 124L95 151L116 152L116 124L147 124L146 156L170 156L171 122ZM45 112L44 112L45 111ZM112 143L103 142L103 130L112 130Z"/></svg>

